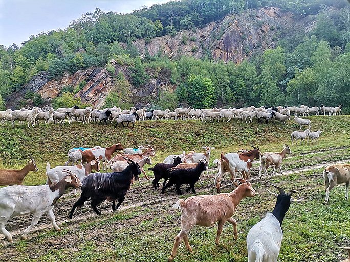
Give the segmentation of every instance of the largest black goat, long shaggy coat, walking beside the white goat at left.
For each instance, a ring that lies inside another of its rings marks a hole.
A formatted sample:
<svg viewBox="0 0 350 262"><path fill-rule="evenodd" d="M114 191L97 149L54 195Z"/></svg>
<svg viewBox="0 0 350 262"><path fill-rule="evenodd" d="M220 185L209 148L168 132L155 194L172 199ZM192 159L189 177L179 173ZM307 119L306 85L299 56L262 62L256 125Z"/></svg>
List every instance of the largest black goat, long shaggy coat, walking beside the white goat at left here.
<svg viewBox="0 0 350 262"><path fill-rule="evenodd" d="M69 218L72 218L74 210L81 207L86 200L91 198L91 207L100 215L101 212L97 209L97 205L104 200L113 201L112 209L116 211L123 203L127 190L133 180L137 180L141 174L141 169L138 163L129 159L129 166L122 172L111 173L91 173L82 181L81 195L77 202L73 205ZM118 200L117 207L115 201Z"/></svg>

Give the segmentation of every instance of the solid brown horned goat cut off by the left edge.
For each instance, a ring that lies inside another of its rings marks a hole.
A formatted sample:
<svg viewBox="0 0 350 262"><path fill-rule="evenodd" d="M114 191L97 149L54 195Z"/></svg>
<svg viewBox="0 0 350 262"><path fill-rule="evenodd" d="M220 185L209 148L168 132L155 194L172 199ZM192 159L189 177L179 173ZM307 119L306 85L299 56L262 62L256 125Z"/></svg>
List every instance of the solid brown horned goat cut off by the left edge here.
<svg viewBox="0 0 350 262"><path fill-rule="evenodd" d="M38 171L35 160L29 156L28 164L23 169L0 169L0 186L2 185L22 185L24 178L30 171Z"/></svg>

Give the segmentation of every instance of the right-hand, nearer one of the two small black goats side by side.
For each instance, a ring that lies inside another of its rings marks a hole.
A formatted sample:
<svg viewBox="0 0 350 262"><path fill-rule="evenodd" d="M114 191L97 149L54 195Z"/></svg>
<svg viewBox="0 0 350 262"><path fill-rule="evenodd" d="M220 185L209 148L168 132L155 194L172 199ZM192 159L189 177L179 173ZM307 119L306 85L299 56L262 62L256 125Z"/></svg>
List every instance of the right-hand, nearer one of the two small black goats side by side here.
<svg viewBox="0 0 350 262"><path fill-rule="evenodd" d="M176 169L171 171L169 182L162 188L162 194L164 194L166 188L175 185L176 192L182 195L180 186L183 184L190 185L186 191L192 189L192 192L195 193L194 184L199 180L201 173L205 170L207 170L207 163L200 162L194 169Z"/></svg>

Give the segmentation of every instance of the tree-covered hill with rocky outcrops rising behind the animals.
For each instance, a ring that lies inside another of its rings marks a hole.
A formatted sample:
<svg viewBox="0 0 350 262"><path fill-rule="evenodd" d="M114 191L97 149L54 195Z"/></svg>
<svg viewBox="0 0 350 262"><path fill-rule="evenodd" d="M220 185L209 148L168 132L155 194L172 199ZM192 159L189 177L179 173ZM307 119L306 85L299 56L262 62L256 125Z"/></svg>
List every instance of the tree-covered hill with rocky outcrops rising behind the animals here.
<svg viewBox="0 0 350 262"><path fill-rule="evenodd" d="M22 47L0 46L0 107L349 107L349 41L345 0L96 9Z"/></svg>

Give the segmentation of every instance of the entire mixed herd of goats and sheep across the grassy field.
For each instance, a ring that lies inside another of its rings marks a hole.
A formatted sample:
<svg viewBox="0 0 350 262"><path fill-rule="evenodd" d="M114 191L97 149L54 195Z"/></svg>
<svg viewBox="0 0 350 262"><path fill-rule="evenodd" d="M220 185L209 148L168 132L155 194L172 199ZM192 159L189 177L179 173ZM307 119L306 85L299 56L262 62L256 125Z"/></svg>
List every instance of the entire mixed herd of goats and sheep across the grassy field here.
<svg viewBox="0 0 350 262"><path fill-rule="evenodd" d="M321 105L320 110L325 115L339 115L342 109L339 107L324 107ZM89 112L89 113L87 113ZM45 120L46 123L60 122L66 120L69 123L73 121L104 121L107 124L109 120L116 120L117 124L134 123L136 120L146 120L152 118L174 118L175 120L192 119L193 117L205 121L207 118L211 121L220 118L239 118L243 121L249 118L249 122L253 118L258 121L265 119L268 123L271 118L275 118L281 122L285 122L290 118L291 112L294 113L295 121L301 125L308 125L311 128L310 120L299 118L307 117L311 112L319 115L318 107L259 107L253 106L240 109L202 109L194 110L189 108L177 108L174 112L170 110L153 110L148 112L146 108L139 109L133 107L131 110L122 110L120 108L107 108L105 110L92 110L91 108L79 109L76 106L72 108L53 109L48 112L42 112L40 108L32 110L15 110L1 111L1 120L5 122L28 121L32 125L39 120ZM152 114L152 115L150 115ZM299 114L299 117L297 116ZM116 125L117 125L116 124ZM291 134L292 144L295 139L318 139L321 131L310 132L307 129L304 132L295 131ZM157 163L148 170L154 174L152 186L159 188L159 182L164 179L161 193L164 194L168 187L174 186L176 192L182 195L182 185L188 184L186 191L195 192L194 185L201 181L201 174L206 172L209 177L208 163L210 161L211 150L215 147L203 146L204 153L190 152L188 154L182 152L178 155L169 155L163 162ZM114 153L117 153L113 156ZM268 176L267 169L274 167L272 175L276 169L282 173L281 163L287 154L292 154L290 147L283 145L281 152L264 152L259 147L252 150L241 150L233 153L221 153L219 159L215 159L213 163L216 165L217 174L214 179L214 187L216 187L216 195L200 195L192 196L186 200L180 199L173 206L174 209L181 210L181 231L175 237L173 249L168 261L173 261L179 244L182 240L186 249L191 252L192 248L188 243L188 232L195 225L209 227L218 222L218 229L215 243L219 242L220 234L226 221L234 227L234 239L237 239L237 222L232 217L235 208L244 197L254 197L257 192L253 189L250 178L250 169L254 159L260 161L259 177L264 172ZM75 202L69 213L69 218L73 217L76 208L81 207L85 201L91 200L92 209L100 215L101 212L97 206L103 201L111 201L112 209L116 211L125 199L125 195L130 186L140 180L141 173L149 180L144 166L151 165L151 157L155 157L155 149L151 145L141 145L138 148L125 148L120 144L114 144L110 147L101 148L95 146L93 148L77 147L72 148L68 152L68 161L65 165L51 168L50 163L46 165L47 183L39 186L22 185L25 176L30 171L38 171L35 160L30 156L28 164L21 170L0 170L0 186L12 185L0 188L0 232L3 233L9 242L12 242L12 236L5 228L7 221L11 216L25 215L33 213L31 225L24 231L21 239L26 239L29 231L38 223L39 218L45 213L51 220L53 227L60 230L55 222L53 208L57 200L65 193L69 187L74 188L73 194L76 196L76 189L81 189L81 195ZM103 164L103 170L111 169L111 172L99 172L100 164ZM93 172L95 170L96 172ZM220 193L221 179L225 172L230 173L230 179L236 189L230 193ZM242 176L242 179L237 178ZM350 164L330 165L323 171L325 181L325 204L329 201L330 190L337 183L346 184L345 198L348 199L348 188L350 184ZM203 184L203 183L202 183ZM281 229L283 218L288 211L291 203L301 202L303 199L294 199L292 194L295 190L285 192L277 185L272 185L278 190L278 193L269 191L277 198L274 210L267 213L264 219L255 224L247 235L248 261L277 261L280 251L283 232ZM115 202L117 201L117 205Z"/></svg>

